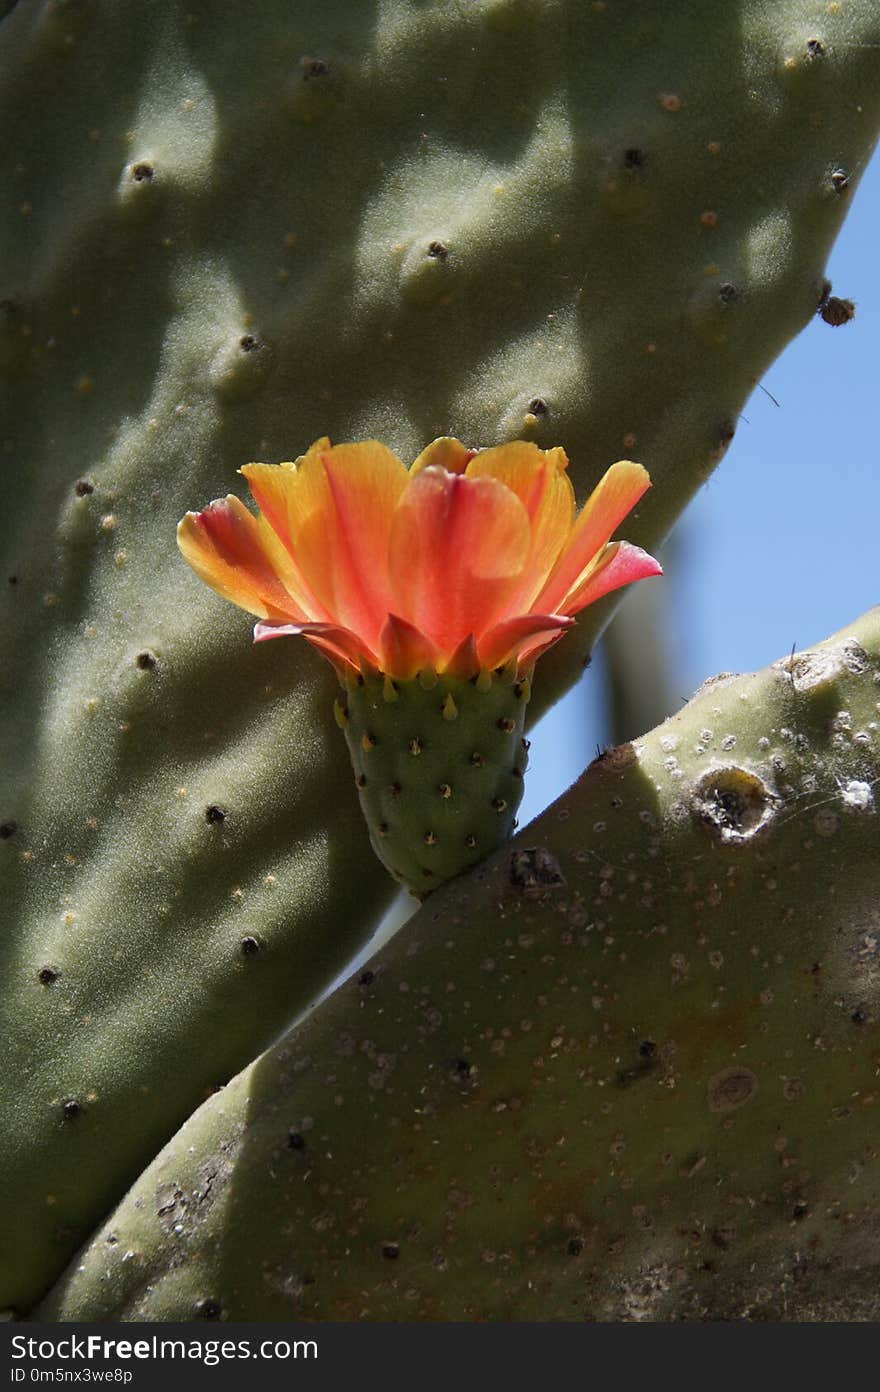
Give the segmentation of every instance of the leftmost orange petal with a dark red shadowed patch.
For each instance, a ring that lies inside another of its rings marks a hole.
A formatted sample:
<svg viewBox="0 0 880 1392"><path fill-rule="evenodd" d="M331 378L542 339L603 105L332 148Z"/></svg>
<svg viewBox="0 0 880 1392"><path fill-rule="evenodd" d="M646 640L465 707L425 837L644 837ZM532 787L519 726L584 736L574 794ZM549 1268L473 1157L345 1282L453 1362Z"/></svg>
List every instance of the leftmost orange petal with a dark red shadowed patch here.
<svg viewBox="0 0 880 1392"><path fill-rule="evenodd" d="M230 496L202 512L187 512L177 528L184 560L212 590L259 618L305 618L285 587L290 558L262 519Z"/></svg>

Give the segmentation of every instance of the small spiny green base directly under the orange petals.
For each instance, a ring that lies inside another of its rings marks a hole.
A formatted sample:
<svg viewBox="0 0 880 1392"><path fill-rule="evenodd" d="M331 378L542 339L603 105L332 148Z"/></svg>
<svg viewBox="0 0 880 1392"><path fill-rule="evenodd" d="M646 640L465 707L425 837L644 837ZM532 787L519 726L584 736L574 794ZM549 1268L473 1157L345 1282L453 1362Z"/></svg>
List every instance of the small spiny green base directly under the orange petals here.
<svg viewBox="0 0 880 1392"><path fill-rule="evenodd" d="M373 851L423 898L494 851L515 825L531 682L512 665L471 679L365 674L344 689L337 721Z"/></svg>

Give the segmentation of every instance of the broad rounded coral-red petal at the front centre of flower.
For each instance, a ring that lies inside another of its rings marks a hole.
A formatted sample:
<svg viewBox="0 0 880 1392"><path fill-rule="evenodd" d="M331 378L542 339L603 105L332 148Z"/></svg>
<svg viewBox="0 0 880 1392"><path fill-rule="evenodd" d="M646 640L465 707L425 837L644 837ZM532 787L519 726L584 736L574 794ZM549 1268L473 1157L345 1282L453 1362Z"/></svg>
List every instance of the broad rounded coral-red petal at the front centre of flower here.
<svg viewBox="0 0 880 1392"><path fill-rule="evenodd" d="M497 479L427 466L401 497L390 541L395 608L448 657L497 621L529 554L529 519Z"/></svg>

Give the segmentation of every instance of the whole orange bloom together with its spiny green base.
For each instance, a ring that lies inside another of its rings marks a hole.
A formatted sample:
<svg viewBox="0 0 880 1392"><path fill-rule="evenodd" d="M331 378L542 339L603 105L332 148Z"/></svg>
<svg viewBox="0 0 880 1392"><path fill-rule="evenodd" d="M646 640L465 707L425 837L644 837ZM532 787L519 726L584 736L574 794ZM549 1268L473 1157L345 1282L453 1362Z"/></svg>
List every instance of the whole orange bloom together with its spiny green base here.
<svg viewBox="0 0 880 1392"><path fill-rule="evenodd" d="M407 469L383 444L315 444L241 472L237 498L188 512L180 548L256 614L327 657L376 855L423 896L504 841L522 798L537 657L574 615L659 575L610 537L650 484L611 465L575 515L561 448L427 445Z"/></svg>

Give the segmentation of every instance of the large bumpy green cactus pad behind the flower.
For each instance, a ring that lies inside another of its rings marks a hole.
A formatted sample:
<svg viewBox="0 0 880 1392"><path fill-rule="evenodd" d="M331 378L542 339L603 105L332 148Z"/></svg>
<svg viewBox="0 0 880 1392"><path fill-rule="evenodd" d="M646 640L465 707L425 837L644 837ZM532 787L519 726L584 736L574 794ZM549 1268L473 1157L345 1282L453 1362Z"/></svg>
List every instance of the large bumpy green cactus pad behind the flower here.
<svg viewBox="0 0 880 1392"><path fill-rule="evenodd" d="M454 432L563 443L579 501L643 461L654 546L827 308L880 39L869 0L19 0L0 36L0 1303L26 1311L388 903L333 675L251 649L177 519L324 432L408 458Z"/></svg>

